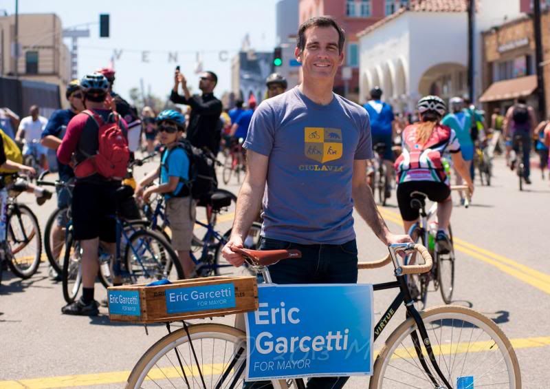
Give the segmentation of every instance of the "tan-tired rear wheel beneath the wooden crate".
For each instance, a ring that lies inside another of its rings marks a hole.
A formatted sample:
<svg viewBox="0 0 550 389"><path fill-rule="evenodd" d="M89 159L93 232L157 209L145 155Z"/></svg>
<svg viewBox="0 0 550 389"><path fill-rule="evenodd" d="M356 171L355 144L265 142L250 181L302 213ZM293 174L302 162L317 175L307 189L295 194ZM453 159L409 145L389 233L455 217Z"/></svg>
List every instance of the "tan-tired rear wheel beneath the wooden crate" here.
<svg viewBox="0 0 550 389"><path fill-rule="evenodd" d="M175 330L137 361L126 388L242 388L246 334L223 324ZM198 363L197 363L198 362Z"/></svg>

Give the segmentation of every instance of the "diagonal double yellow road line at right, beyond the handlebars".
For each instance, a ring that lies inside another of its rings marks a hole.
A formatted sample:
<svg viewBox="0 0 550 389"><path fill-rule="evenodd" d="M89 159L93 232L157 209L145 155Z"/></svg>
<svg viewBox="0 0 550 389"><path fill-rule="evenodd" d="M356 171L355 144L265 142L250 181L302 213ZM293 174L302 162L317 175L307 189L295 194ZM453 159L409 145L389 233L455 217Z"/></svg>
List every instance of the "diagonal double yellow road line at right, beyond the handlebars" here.
<svg viewBox="0 0 550 389"><path fill-rule="evenodd" d="M382 208L379 208L379 210L384 219L394 222L395 224L399 224L399 226L403 225L399 213ZM520 264L519 262L511 260L503 255L482 249L481 247L466 242L465 240L461 240L460 238L453 237L453 240L454 249L456 249L456 251L461 251L476 260L481 260L487 264L495 266L500 271L503 271L512 277L516 277L518 280L538 288L544 293L550 294L550 275L531 269L529 266Z"/></svg>

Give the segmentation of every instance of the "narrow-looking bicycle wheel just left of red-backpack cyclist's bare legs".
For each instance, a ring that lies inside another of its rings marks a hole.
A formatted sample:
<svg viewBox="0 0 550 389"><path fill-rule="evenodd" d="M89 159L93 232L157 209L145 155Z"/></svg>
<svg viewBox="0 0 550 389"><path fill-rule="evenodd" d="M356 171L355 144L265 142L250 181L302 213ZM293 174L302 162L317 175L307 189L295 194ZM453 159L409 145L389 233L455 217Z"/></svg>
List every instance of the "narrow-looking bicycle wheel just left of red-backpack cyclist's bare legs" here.
<svg viewBox="0 0 550 389"><path fill-rule="evenodd" d="M67 304L74 302L82 284L82 249L72 233L67 237L61 282L65 301Z"/></svg>

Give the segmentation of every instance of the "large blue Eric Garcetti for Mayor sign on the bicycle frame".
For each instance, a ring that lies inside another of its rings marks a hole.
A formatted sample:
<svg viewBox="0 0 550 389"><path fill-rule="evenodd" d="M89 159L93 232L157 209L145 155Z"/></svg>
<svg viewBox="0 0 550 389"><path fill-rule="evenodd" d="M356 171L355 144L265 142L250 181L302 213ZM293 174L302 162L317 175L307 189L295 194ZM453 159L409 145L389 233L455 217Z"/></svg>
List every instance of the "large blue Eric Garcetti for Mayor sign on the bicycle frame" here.
<svg viewBox="0 0 550 389"><path fill-rule="evenodd" d="M372 285L259 285L258 297L248 380L372 374Z"/></svg>

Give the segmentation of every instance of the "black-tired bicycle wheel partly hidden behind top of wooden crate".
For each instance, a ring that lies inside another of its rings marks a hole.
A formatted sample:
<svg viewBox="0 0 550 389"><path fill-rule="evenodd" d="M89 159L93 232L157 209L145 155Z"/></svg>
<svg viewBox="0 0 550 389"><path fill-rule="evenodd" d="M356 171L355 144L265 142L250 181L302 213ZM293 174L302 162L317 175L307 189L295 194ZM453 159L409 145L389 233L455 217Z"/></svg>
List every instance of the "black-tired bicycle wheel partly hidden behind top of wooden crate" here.
<svg viewBox="0 0 550 389"><path fill-rule="evenodd" d="M183 280L179 258L166 239L155 231L136 231L129 238L122 262L132 283L148 283L167 278Z"/></svg>

